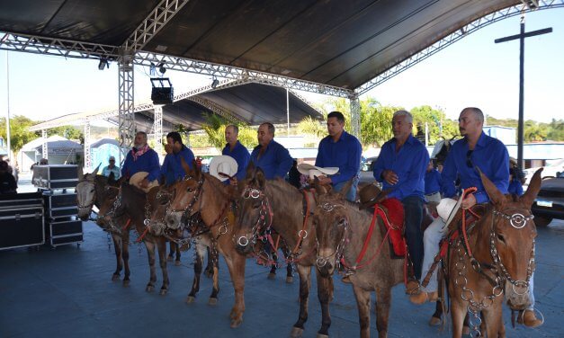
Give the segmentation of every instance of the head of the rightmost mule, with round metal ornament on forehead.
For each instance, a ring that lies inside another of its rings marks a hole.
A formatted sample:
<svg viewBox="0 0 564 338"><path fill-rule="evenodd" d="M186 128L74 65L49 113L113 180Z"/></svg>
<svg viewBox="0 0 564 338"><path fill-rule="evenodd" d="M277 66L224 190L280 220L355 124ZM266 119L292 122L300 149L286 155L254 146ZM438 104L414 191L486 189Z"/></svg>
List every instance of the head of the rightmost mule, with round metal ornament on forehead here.
<svg viewBox="0 0 564 338"><path fill-rule="evenodd" d="M482 183L494 210L483 225L489 228L489 252L499 277L506 280L507 305L523 310L531 303L529 282L534 271L534 238L536 227L531 206L541 189L541 172L533 175L523 196L504 196L481 174Z"/></svg>

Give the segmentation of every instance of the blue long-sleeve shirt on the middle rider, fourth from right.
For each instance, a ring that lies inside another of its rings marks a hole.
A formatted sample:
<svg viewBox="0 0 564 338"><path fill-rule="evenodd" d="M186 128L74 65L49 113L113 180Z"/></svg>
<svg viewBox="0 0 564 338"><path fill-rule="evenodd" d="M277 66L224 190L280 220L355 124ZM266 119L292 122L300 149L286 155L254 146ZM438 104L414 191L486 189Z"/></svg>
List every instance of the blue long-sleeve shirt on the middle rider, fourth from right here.
<svg viewBox="0 0 564 338"><path fill-rule="evenodd" d="M261 146L258 145L251 153L251 161L263 169L264 176L267 180L273 180L275 177L284 178L286 173L293 165L293 159L288 152L288 149L283 147L280 143L271 140L266 146L263 156L258 158Z"/></svg>

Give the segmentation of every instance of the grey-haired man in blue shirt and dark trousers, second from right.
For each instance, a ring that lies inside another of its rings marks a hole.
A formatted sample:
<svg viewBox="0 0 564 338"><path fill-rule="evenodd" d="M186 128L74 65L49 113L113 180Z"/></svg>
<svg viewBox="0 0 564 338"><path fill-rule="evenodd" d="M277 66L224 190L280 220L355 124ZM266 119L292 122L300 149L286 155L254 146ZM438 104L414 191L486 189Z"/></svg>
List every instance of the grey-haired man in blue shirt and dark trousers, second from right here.
<svg viewBox="0 0 564 338"><path fill-rule="evenodd" d="M423 263L423 232L421 221L425 203L425 168L429 153L411 135L413 116L408 111L396 111L391 120L394 138L384 143L374 164L374 178L382 182L389 198L401 200L405 209L406 240L417 280Z"/></svg>

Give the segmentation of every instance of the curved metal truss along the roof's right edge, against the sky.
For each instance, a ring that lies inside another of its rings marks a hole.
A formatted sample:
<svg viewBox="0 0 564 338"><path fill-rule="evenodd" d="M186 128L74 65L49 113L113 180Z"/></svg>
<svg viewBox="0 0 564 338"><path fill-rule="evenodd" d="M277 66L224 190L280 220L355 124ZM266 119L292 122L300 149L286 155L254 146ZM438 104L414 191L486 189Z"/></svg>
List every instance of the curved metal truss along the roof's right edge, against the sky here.
<svg viewBox="0 0 564 338"><path fill-rule="evenodd" d="M461 29L452 32L452 34L436 41L433 45L419 51L409 58L406 58L398 64L390 64L385 72L381 73L379 76L374 77L371 81L355 88L354 93L356 93L357 95L362 95L363 93L372 90L375 86L388 81L390 78L397 76L404 70L407 70L410 67L413 67L419 62L425 60L425 58L429 58L438 51L452 45L452 43L461 40L462 38L470 35L470 33L478 31L480 28L486 27L491 23L498 22L515 15L521 15L522 13L557 7L564 7L564 0L540 0L538 1L538 6L536 7L534 6L534 4L515 4L500 11L490 13L479 18L478 20L470 22L469 24L461 27Z"/></svg>

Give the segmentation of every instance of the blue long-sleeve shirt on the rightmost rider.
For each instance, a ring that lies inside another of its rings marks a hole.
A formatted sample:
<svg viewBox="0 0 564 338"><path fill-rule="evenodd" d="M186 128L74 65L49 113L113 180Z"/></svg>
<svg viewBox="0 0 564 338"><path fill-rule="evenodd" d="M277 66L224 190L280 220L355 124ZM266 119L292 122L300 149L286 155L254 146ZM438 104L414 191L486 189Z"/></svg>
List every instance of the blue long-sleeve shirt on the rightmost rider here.
<svg viewBox="0 0 564 338"><path fill-rule="evenodd" d="M497 189L506 194L509 185L509 154L506 146L497 138L491 138L482 132L474 150L471 153L469 150L467 139L462 138L454 142L449 155L446 156L443 165L444 197L456 194L454 182L460 178L461 189L478 188L478 191L474 192L477 203L488 202L488 193L475 167L479 167ZM472 166L467 163L469 161Z"/></svg>

